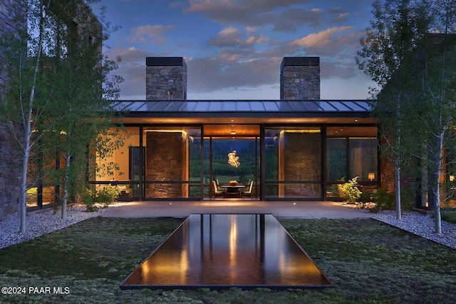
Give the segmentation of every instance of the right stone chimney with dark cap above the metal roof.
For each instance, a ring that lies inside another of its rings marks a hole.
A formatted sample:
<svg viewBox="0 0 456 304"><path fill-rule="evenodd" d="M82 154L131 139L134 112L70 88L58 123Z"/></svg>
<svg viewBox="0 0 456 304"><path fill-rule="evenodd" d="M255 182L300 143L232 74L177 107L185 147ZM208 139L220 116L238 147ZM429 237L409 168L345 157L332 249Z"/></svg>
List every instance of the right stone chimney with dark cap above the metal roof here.
<svg viewBox="0 0 456 304"><path fill-rule="evenodd" d="M320 99L320 57L284 57L280 65L280 99Z"/></svg>

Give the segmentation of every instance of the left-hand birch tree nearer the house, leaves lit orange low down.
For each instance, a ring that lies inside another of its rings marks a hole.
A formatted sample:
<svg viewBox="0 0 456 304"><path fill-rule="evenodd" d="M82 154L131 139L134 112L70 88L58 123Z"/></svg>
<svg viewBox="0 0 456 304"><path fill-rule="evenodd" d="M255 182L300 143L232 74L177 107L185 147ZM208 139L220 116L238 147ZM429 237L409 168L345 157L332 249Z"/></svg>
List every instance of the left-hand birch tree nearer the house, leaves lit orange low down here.
<svg viewBox="0 0 456 304"><path fill-rule="evenodd" d="M88 5L71 0L53 7L54 45L53 78L56 86L52 117L53 136L48 147L56 147L64 161L63 167L53 174L62 186L61 217L66 218L68 197L76 196L87 185L86 166L88 147L113 153L123 143L113 124L110 103L118 97L120 76L112 74L117 62L103 57L101 46L108 39L110 28L91 14ZM76 16L76 18L74 17ZM103 20L103 16L100 16ZM111 141L103 141L100 134L109 133Z"/></svg>

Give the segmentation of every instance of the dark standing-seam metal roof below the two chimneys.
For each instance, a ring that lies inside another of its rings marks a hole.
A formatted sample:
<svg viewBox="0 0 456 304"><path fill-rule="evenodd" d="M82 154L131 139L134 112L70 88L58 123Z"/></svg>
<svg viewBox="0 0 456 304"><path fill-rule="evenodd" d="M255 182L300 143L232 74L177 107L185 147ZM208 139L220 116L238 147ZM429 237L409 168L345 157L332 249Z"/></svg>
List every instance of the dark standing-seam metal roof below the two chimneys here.
<svg viewBox="0 0 456 304"><path fill-rule="evenodd" d="M238 116L368 116L371 101L367 100L160 100L115 101L117 111L125 116L212 116L227 113Z"/></svg>

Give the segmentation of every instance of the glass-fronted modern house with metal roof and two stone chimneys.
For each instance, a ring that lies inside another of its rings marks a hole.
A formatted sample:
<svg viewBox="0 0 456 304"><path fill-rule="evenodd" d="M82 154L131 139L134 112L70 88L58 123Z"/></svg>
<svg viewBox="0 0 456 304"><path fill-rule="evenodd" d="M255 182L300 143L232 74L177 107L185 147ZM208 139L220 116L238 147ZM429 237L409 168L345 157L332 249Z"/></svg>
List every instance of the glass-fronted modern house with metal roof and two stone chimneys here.
<svg viewBox="0 0 456 304"><path fill-rule="evenodd" d="M97 159L120 170L90 182L143 201L215 198L233 179L252 183L239 198L259 200L336 199L337 185L355 176L380 186L369 101L321 100L319 57L286 57L279 68L280 100L187 100L185 60L147 57L147 99L115 103L126 144Z"/></svg>

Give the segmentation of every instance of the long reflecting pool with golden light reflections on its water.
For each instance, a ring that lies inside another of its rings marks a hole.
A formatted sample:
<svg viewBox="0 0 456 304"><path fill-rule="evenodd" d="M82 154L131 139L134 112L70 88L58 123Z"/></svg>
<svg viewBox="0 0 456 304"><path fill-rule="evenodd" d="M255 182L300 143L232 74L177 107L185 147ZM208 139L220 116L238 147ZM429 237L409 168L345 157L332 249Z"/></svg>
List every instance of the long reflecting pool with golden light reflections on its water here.
<svg viewBox="0 0 456 304"><path fill-rule="evenodd" d="M331 286L270 214L192 214L120 288Z"/></svg>

